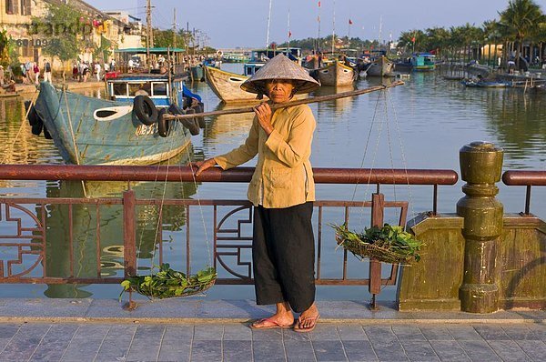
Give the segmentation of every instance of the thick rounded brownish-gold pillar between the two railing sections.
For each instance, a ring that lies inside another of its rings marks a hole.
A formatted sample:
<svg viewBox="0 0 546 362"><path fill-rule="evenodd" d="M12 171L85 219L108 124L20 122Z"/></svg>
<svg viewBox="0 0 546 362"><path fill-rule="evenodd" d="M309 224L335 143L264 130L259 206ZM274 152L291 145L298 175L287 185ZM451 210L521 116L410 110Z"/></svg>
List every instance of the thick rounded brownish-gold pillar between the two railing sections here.
<svg viewBox="0 0 546 362"><path fill-rule="evenodd" d="M460 148L460 178L466 196L457 203L464 218L464 277L459 288L461 310L491 313L499 309L496 278L497 244L502 231L503 207L495 196L501 181L503 151L488 142Z"/></svg>

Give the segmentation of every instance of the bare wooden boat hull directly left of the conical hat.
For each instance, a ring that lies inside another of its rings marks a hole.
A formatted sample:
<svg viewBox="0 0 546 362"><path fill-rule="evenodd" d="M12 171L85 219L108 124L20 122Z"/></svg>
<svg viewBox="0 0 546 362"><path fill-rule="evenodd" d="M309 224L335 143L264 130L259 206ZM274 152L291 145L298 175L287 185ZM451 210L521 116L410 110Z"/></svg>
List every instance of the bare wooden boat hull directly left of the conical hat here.
<svg viewBox="0 0 546 362"><path fill-rule="evenodd" d="M248 79L247 75L237 75L210 66L205 66L204 69L207 85L222 102L259 102L255 94L241 89L243 82Z"/></svg>

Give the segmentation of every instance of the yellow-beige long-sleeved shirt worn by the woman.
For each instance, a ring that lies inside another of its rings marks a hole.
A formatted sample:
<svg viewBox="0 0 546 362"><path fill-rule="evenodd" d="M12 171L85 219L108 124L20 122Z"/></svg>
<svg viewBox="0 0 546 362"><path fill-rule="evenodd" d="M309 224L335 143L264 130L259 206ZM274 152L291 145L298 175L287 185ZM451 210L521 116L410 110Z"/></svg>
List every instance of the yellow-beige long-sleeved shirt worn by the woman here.
<svg viewBox="0 0 546 362"><path fill-rule="evenodd" d="M258 155L258 164L248 185L248 200L255 206L289 207L315 201L315 183L309 162L316 122L307 105L274 112L268 136L255 116L242 146L216 156L223 169L239 166Z"/></svg>

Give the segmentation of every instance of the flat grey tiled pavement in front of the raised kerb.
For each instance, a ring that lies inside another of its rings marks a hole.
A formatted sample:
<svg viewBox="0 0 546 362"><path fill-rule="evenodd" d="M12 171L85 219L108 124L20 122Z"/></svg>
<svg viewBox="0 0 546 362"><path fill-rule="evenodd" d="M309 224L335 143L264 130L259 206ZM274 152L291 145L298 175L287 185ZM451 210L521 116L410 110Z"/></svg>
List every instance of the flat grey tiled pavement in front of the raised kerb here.
<svg viewBox="0 0 546 362"><path fill-rule="evenodd" d="M0 361L544 361L539 324L0 323Z"/></svg>

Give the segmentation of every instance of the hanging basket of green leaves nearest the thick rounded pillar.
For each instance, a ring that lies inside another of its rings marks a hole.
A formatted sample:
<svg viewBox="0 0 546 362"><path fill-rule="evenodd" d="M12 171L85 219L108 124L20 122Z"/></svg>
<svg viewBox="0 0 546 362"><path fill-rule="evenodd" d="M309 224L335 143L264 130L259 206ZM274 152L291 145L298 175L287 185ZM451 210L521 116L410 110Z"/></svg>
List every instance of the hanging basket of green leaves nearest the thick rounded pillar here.
<svg viewBox="0 0 546 362"><path fill-rule="evenodd" d="M336 241L359 259L375 258L384 263L411 265L420 260L418 251L423 243L416 240L401 226L366 228L364 233L349 231L347 226L332 225Z"/></svg>

